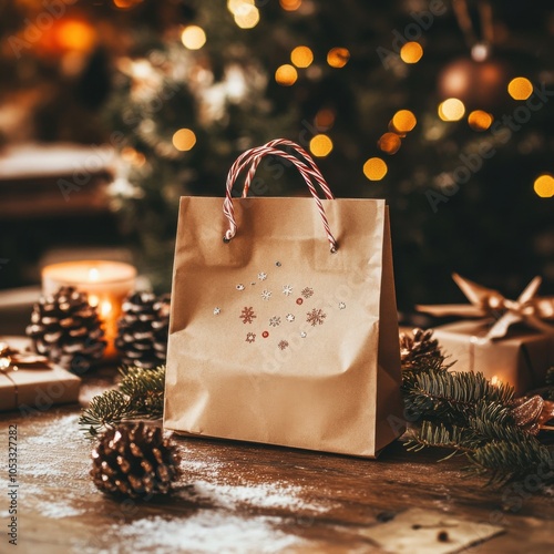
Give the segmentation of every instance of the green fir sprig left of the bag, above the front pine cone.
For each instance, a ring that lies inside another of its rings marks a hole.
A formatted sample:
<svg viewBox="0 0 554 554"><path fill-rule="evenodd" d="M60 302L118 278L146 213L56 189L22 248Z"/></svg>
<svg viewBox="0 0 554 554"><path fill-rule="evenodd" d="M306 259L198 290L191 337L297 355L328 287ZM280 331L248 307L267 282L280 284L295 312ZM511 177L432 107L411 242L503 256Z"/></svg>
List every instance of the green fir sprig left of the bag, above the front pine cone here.
<svg viewBox="0 0 554 554"><path fill-rule="evenodd" d="M117 390L94 397L82 411L79 424L91 437L134 419L158 419L163 414L165 367L123 368Z"/></svg>

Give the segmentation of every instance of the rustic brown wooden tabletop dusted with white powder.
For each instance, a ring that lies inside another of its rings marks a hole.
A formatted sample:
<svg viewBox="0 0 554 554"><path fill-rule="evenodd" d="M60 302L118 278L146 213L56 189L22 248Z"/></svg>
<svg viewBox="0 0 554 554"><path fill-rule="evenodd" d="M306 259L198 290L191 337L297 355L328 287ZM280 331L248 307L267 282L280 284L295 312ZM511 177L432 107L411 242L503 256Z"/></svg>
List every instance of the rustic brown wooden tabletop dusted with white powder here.
<svg viewBox="0 0 554 554"><path fill-rule="evenodd" d="M88 377L81 403L112 383L111 375ZM365 461L177 439L185 474L176 493L116 501L88 474L91 443L78 429L79 413L74 404L0 414L3 468L9 424L18 427L20 483L17 547L6 534L2 486L1 553L382 552L363 531L412 506L505 529L471 552L554 552L552 492L486 488L463 471L463 460L437 463L435 453L408 453L400 443Z"/></svg>

